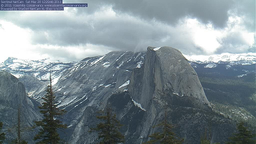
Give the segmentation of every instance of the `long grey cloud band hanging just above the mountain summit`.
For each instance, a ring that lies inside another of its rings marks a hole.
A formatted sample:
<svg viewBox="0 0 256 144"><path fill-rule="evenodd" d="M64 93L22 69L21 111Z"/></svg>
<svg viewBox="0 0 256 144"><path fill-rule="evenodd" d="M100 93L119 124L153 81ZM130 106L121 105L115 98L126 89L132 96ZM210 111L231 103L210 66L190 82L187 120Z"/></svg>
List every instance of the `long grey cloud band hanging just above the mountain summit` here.
<svg viewBox="0 0 256 144"><path fill-rule="evenodd" d="M198 49L192 47L191 37L186 34L186 31L181 30L182 27L176 29L153 21L139 20L127 15L120 16L122 18L109 17L109 20L94 19L95 17L89 16L91 19L88 21L92 23L35 32L32 40L34 44L65 46L91 43L108 46L109 50L132 51L145 50L149 45L156 47L171 45L191 53L199 52Z"/></svg>

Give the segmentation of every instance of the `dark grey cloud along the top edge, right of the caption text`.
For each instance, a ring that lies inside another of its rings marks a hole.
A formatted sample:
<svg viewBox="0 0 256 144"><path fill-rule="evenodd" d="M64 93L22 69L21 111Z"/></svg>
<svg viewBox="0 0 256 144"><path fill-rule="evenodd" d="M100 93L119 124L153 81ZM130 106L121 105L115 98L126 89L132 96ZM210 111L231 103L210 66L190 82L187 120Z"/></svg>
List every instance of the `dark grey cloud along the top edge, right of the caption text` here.
<svg viewBox="0 0 256 144"><path fill-rule="evenodd" d="M223 27L228 18L227 10L232 0L115 0L114 9L139 15L141 18L158 19L174 24L180 17L190 15Z"/></svg>

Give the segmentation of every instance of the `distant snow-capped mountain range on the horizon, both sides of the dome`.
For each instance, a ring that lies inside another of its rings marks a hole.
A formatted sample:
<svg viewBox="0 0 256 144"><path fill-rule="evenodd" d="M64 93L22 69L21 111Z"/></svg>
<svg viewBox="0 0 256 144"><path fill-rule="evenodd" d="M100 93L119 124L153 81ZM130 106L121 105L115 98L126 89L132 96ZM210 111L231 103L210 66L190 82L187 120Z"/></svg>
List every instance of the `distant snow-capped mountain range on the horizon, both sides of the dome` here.
<svg viewBox="0 0 256 144"><path fill-rule="evenodd" d="M140 52L145 54L145 52ZM242 53L242 54L231 54L222 53L219 55L184 55L191 66L200 73L201 68L212 68L226 71L233 69L228 75L241 77L246 75L248 72L255 71L256 53ZM97 56L96 56L97 57ZM100 60L100 59L99 59ZM46 59L42 60L25 60L18 59L15 57L8 57L4 62L0 63L0 69L6 70L16 76L17 78L24 75L32 75L38 80L48 80L49 71L51 71L53 84L55 84L63 71L80 63L79 61L73 61L68 63L63 62L46 62ZM96 62L95 62L96 63ZM140 67L143 60L137 63L136 67ZM92 63L93 64L93 63ZM103 63L105 67L109 63ZM238 65L238 66L237 66ZM78 66L78 65L76 65ZM230 71L229 71L230 72Z"/></svg>

